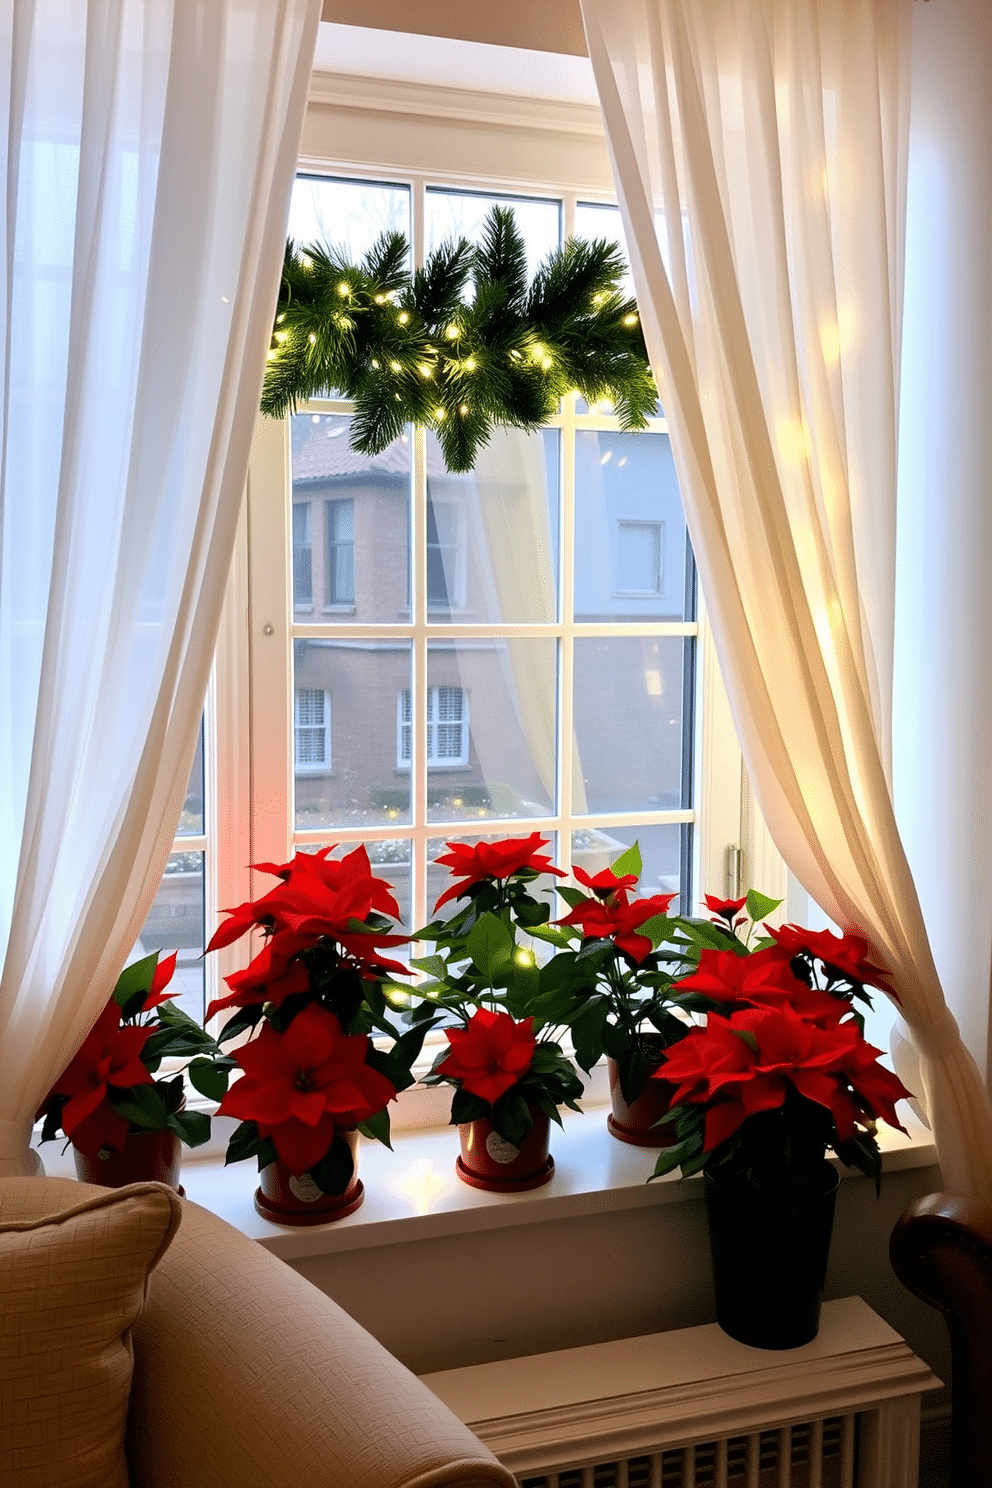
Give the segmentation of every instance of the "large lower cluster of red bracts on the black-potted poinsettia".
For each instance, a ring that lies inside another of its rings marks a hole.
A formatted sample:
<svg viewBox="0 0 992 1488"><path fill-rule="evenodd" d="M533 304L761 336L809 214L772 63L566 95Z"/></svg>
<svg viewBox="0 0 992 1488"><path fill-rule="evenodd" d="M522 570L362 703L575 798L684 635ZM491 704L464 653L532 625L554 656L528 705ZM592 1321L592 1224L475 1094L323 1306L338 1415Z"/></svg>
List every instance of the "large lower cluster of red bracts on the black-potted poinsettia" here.
<svg viewBox="0 0 992 1488"><path fill-rule="evenodd" d="M709 1013L674 1045L659 1076L677 1089L672 1106L706 1106L703 1150L712 1152L757 1112L775 1110L790 1088L830 1110L837 1140L855 1134L863 1117L901 1123L895 1101L909 1091L877 1062L854 1021L822 1028L794 1006L744 1007L724 1018Z"/></svg>

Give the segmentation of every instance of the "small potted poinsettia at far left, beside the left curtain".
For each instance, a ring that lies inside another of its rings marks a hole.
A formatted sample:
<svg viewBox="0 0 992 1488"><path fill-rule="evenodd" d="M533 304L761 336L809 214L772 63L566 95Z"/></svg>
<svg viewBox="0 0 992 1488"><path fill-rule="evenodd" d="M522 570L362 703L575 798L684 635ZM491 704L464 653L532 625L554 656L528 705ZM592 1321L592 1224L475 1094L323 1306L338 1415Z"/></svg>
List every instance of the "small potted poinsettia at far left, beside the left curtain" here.
<svg viewBox="0 0 992 1488"><path fill-rule="evenodd" d="M123 969L39 1112L42 1141L62 1131L83 1183L120 1187L152 1178L178 1187L180 1143L199 1147L210 1137L210 1117L184 1110L183 1071L173 1067L156 1079L165 1059L217 1052L199 1024L173 1004L175 992L165 991L175 954L159 955Z"/></svg>

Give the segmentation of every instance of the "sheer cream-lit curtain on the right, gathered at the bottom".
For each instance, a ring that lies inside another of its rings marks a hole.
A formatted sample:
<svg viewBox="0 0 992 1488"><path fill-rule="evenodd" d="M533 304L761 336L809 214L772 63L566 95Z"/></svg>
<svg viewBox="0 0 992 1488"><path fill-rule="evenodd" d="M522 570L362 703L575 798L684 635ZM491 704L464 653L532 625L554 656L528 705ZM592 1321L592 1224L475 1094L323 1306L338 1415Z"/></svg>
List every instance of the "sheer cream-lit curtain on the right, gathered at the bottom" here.
<svg viewBox="0 0 992 1488"><path fill-rule="evenodd" d="M891 802L910 0L582 3L761 811L892 970L944 1183L992 1201L992 1110Z"/></svg>

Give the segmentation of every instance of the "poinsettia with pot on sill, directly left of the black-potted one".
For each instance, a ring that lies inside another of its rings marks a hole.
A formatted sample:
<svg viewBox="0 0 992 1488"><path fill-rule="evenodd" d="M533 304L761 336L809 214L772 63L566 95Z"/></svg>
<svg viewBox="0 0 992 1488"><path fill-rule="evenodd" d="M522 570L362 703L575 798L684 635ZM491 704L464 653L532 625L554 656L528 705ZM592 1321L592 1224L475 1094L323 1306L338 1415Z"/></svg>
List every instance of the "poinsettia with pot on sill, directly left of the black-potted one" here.
<svg viewBox="0 0 992 1488"><path fill-rule="evenodd" d="M674 1134L659 1125L668 1110L666 1088L648 1080L665 1049L689 1031L672 1012L671 990L686 963L674 948L678 918L669 918L675 894L635 897L641 853L628 848L611 868L574 875L587 893L558 885L570 906L544 930L561 948L579 946L573 987L579 1009L571 1019L576 1059L589 1071L607 1056L613 1112L607 1125L620 1141L666 1146Z"/></svg>

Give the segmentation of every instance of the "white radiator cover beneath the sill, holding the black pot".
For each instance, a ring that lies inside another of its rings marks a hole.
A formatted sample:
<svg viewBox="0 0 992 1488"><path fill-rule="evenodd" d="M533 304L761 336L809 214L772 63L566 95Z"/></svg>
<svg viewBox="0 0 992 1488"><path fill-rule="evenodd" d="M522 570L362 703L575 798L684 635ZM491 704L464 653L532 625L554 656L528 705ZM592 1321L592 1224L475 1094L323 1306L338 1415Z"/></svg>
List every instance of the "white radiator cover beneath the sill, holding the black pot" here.
<svg viewBox="0 0 992 1488"><path fill-rule="evenodd" d="M781 1353L714 1323L422 1378L522 1488L916 1488L940 1385L860 1298Z"/></svg>

